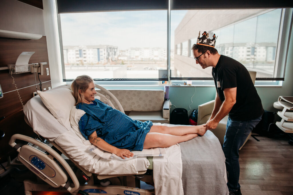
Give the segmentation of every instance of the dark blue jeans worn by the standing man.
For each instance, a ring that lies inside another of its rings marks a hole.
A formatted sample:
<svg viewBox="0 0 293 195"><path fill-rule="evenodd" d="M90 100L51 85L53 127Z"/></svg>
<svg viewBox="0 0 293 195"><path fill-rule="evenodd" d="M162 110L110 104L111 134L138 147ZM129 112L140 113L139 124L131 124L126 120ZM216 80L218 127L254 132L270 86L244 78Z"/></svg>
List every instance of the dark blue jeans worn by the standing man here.
<svg viewBox="0 0 293 195"><path fill-rule="evenodd" d="M228 172L227 186L230 191L240 188L239 184L239 148L243 145L252 129L259 123L261 116L247 121L234 121L228 118L226 134L224 137L223 151L226 157Z"/></svg>

